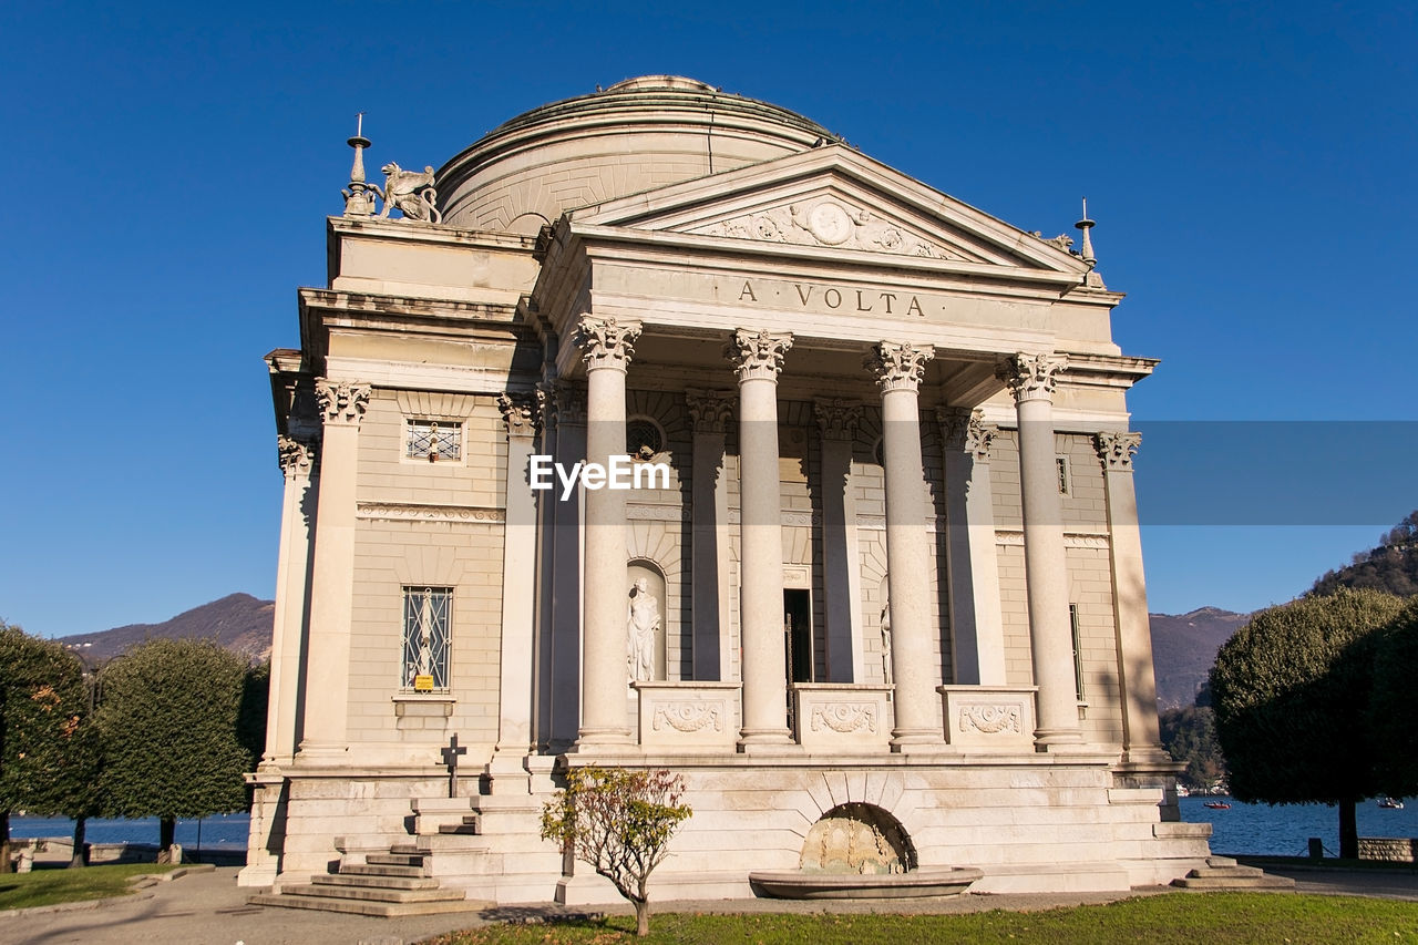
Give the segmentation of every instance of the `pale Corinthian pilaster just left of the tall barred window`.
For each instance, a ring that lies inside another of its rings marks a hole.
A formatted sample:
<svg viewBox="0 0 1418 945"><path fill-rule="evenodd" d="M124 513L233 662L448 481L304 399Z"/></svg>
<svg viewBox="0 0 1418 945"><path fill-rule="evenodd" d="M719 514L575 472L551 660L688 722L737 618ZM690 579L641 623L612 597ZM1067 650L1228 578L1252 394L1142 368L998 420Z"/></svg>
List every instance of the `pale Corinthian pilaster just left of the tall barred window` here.
<svg viewBox="0 0 1418 945"><path fill-rule="evenodd" d="M354 478L359 424L369 385L319 379L320 491L311 579L311 639L305 663L305 738L311 761L347 749L350 616L354 606Z"/></svg>

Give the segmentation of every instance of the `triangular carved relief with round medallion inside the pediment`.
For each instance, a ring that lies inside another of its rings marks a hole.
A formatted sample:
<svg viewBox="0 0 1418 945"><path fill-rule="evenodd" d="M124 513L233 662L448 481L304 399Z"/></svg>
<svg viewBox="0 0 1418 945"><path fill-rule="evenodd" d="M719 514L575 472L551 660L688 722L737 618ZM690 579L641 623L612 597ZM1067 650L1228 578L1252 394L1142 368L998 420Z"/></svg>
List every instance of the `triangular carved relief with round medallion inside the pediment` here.
<svg viewBox="0 0 1418 945"><path fill-rule="evenodd" d="M808 197L692 227L688 233L927 260L980 261L875 210L837 197Z"/></svg>

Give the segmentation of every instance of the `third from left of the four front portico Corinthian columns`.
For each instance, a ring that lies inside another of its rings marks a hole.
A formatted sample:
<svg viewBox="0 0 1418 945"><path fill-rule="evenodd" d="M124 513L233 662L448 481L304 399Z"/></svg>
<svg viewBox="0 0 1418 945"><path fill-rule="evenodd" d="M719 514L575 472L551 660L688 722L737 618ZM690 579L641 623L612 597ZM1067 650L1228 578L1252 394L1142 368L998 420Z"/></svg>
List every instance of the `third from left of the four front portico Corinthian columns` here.
<svg viewBox="0 0 1418 945"><path fill-rule="evenodd" d="M930 345L882 342L866 368L882 389L882 460L886 465L886 582L891 600L891 671L896 687L892 751L944 741L936 715L939 665L932 653L930 539L917 390Z"/></svg>

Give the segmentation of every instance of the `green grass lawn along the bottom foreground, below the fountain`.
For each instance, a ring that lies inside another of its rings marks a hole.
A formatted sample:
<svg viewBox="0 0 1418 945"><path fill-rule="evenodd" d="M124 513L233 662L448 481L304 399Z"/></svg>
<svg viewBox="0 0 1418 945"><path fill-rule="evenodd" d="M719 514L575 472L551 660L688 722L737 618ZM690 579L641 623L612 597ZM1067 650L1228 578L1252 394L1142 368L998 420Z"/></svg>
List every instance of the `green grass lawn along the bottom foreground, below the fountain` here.
<svg viewBox="0 0 1418 945"><path fill-rule="evenodd" d="M889 908L889 907L888 907ZM971 915L651 915L647 942L1409 942L1418 902L1330 895L1210 892L1150 895L1109 905ZM431 939L437 945L634 942L634 917L545 925L499 925Z"/></svg>

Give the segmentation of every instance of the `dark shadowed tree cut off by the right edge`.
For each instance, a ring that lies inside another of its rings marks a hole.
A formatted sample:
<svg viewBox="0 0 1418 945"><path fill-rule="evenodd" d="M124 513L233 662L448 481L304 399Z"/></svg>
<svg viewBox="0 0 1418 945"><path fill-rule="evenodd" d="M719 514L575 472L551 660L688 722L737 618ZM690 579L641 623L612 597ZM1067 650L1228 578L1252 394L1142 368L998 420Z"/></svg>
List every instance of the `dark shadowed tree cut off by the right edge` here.
<svg viewBox="0 0 1418 945"><path fill-rule="evenodd" d="M1409 600L1374 647L1368 728L1375 734L1378 789L1392 797L1418 795L1418 600Z"/></svg>

